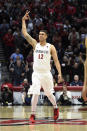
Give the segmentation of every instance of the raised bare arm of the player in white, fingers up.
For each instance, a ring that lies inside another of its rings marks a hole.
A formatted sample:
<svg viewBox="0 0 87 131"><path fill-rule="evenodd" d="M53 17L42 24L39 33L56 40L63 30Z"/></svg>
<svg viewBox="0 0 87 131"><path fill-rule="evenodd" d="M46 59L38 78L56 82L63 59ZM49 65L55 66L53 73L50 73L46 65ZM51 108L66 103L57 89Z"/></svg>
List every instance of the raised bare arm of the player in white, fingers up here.
<svg viewBox="0 0 87 131"><path fill-rule="evenodd" d="M29 20L30 16L29 16L29 11L26 11L25 15L22 18L22 33L25 37L25 39L28 41L28 43L30 45L32 45L33 48L35 48L37 41L35 39L33 39L28 33L27 33L27 29L26 29L26 20Z"/></svg>

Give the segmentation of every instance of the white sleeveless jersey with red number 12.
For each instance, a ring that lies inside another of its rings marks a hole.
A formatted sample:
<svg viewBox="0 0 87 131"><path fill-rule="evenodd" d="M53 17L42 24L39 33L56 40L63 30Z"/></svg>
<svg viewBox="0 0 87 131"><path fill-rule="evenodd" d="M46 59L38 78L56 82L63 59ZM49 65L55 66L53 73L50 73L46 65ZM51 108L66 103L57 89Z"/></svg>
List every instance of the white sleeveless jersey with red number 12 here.
<svg viewBox="0 0 87 131"><path fill-rule="evenodd" d="M49 72L51 70L50 66L50 45L46 43L45 46L41 46L40 43L37 43L34 50L34 63L33 70L36 72Z"/></svg>

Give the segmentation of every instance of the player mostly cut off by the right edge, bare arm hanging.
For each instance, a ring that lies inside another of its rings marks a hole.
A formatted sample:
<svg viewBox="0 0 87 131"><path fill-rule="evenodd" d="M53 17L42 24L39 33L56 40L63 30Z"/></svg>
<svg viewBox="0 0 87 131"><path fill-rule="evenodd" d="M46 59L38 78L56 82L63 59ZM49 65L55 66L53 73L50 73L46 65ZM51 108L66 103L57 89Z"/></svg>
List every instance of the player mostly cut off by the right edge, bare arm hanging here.
<svg viewBox="0 0 87 131"><path fill-rule="evenodd" d="M85 47L86 47L86 60L84 63L84 86L82 90L82 97L84 102L87 102L87 37L85 39Z"/></svg>

